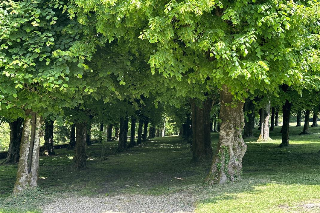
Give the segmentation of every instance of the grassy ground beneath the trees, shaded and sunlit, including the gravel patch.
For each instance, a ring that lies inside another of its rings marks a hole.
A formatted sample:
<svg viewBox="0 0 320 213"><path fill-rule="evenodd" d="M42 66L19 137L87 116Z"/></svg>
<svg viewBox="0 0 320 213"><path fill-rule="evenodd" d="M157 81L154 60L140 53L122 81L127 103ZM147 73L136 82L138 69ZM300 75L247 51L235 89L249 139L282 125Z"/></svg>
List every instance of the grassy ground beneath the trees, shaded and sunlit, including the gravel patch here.
<svg viewBox="0 0 320 213"><path fill-rule="evenodd" d="M190 145L177 136L116 154L116 141L93 144L84 171L75 170L72 150L56 149L40 157L39 188L23 194L11 194L17 165L0 165L0 213L320 212L320 127L299 135L302 128L290 127L286 148L278 148L281 127L265 142L255 142L255 129L245 139L242 179L219 186L204 183L211 162L192 163ZM213 150L218 138L212 133Z"/></svg>

